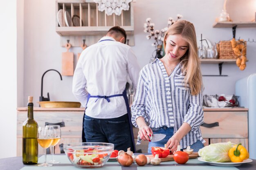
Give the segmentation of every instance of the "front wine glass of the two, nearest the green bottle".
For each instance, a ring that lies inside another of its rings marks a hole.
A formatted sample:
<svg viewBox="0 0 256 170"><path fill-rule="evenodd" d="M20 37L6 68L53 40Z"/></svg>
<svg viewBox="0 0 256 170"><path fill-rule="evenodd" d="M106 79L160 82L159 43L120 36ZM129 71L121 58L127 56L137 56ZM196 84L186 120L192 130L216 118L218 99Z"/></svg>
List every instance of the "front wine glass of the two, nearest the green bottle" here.
<svg viewBox="0 0 256 170"><path fill-rule="evenodd" d="M54 129L50 126L38 127L38 137L37 141L40 146L43 147L45 161L42 164L38 164L38 166L52 166L52 164L46 163L46 149L52 145L54 139Z"/></svg>

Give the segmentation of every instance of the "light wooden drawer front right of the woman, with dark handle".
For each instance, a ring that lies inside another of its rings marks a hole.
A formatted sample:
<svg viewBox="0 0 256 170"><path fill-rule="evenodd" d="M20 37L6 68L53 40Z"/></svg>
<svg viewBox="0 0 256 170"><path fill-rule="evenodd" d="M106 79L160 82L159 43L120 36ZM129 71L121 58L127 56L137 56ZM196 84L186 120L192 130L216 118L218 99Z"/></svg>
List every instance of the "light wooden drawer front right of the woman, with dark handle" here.
<svg viewBox="0 0 256 170"><path fill-rule="evenodd" d="M204 123L215 122L218 122L219 126L200 126L203 138L248 138L247 112L204 112Z"/></svg>

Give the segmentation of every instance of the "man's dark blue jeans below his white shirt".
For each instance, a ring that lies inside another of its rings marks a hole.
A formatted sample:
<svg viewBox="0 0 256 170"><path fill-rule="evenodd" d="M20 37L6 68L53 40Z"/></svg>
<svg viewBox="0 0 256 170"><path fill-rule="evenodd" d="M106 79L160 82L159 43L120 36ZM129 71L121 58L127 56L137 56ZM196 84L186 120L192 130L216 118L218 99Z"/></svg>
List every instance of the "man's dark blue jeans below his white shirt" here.
<svg viewBox="0 0 256 170"><path fill-rule="evenodd" d="M134 152L128 114L112 119L96 119L85 115L84 132L86 142L106 142L114 144L115 150Z"/></svg>

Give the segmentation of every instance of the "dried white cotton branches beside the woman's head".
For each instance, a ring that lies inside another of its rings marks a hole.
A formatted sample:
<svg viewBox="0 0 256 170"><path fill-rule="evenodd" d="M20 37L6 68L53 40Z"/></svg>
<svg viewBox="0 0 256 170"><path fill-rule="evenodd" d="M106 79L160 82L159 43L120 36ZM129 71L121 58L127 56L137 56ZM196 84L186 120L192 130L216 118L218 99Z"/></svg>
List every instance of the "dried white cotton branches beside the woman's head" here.
<svg viewBox="0 0 256 170"><path fill-rule="evenodd" d="M180 14L177 14L177 20L179 20L180 18L182 18L183 16ZM177 21L176 20L176 21ZM168 27L171 26L174 22L176 22L175 20L173 20L173 18L168 18L167 21L167 27L161 29L161 31L159 30L155 30L155 24L154 23L150 23L151 18L147 18L146 19L146 23L144 23L144 32L145 33L149 33L149 35L146 36L146 39L149 40L154 39L155 42L153 44L151 44L152 46L157 47L158 45L162 45L163 41L164 41L164 33L167 31Z"/></svg>

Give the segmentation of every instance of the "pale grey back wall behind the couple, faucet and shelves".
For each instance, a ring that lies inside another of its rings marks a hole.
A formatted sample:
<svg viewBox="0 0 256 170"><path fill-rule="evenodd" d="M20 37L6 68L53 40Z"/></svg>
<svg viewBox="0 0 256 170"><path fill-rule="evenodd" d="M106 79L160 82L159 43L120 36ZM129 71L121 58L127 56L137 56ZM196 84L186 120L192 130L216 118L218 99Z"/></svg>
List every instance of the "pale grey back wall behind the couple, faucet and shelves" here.
<svg viewBox="0 0 256 170"><path fill-rule="evenodd" d="M155 50L151 44L153 41L146 40L143 32L143 24L146 18L152 18L156 29L167 26L169 17L176 18L177 13L184 16L185 20L193 22L197 35L202 33L212 44L220 40L232 38L231 28L213 28L215 18L219 16L223 8L224 0L138 0L134 3L134 25L135 25L135 51L141 68L148 64L152 52ZM232 0L227 3L227 10L234 21L250 21L254 19L254 0ZM255 3L254 3L255 4ZM247 9L241 14L238 9ZM40 96L41 76L47 69L61 71L61 53L65 48L60 46L60 36L55 31L55 1L53 0L25 0L24 11L24 96L23 105L27 103L27 96L33 95L35 102ZM236 37L256 40L255 28L238 28ZM235 64L224 64L223 75L228 77L203 77L205 94L234 94L235 81L251 73L256 72L254 63L256 58L256 43L248 43L247 57L249 62L245 71L240 71ZM81 47L72 47L74 60ZM218 64L202 64L204 75L218 74ZM52 101L76 101L71 92L72 77L63 76L60 80L56 72L50 71L44 77L43 96L50 94ZM38 106L38 105L36 105Z"/></svg>

